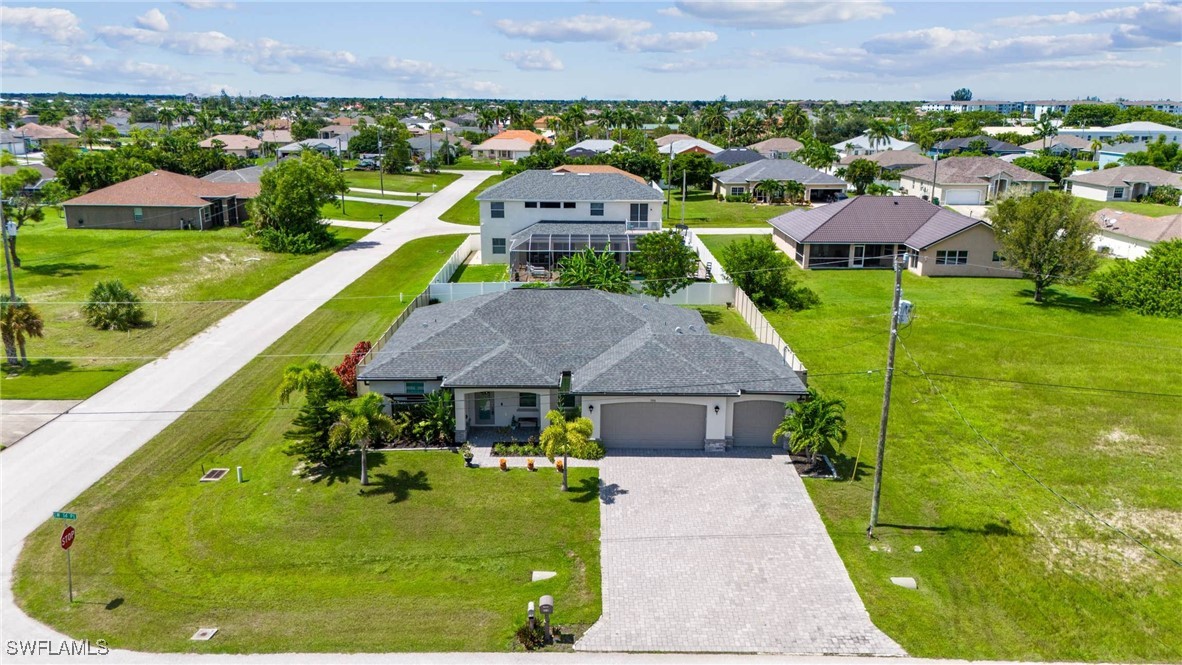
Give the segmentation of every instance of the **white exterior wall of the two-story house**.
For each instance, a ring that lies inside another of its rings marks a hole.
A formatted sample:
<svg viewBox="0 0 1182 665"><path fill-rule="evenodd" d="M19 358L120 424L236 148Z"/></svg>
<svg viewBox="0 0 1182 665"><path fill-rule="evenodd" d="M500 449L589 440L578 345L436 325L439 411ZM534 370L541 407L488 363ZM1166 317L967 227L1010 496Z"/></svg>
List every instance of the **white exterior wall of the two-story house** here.
<svg viewBox="0 0 1182 665"><path fill-rule="evenodd" d="M571 176L577 177L577 176ZM513 234L538 222L628 222L632 203L649 207L650 229L661 228L658 201L603 201L603 216L591 216L590 201L576 201L574 208L526 208L524 201L502 201L505 217L493 219L493 201L480 201L480 260L483 263L508 263ZM505 253L493 254L493 239L505 240Z"/></svg>

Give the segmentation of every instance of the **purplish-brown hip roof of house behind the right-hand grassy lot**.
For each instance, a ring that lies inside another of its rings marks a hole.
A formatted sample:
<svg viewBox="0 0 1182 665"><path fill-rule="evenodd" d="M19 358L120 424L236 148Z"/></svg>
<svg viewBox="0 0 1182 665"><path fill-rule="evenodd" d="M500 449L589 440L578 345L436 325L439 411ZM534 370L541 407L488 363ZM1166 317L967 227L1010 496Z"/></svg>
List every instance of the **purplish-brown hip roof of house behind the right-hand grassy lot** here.
<svg viewBox="0 0 1182 665"><path fill-rule="evenodd" d="M983 222L915 196L856 196L787 213L768 223L797 242L900 243L923 249Z"/></svg>

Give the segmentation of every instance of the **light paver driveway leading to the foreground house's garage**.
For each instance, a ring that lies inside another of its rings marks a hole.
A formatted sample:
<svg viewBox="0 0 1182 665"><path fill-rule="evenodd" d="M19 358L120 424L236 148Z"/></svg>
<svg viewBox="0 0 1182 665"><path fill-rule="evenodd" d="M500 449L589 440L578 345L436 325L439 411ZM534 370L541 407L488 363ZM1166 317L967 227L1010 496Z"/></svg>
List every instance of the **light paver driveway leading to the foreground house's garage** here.
<svg viewBox="0 0 1182 665"><path fill-rule="evenodd" d="M786 462L604 458L603 617L574 648L903 656L871 624Z"/></svg>

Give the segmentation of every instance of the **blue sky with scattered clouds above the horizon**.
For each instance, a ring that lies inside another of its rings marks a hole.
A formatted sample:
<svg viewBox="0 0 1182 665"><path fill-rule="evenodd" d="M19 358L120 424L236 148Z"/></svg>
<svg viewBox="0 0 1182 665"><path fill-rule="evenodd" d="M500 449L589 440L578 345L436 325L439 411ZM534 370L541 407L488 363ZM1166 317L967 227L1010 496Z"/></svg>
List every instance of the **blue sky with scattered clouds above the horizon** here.
<svg viewBox="0 0 1182 665"><path fill-rule="evenodd" d="M1182 5L5 2L4 91L1182 98Z"/></svg>

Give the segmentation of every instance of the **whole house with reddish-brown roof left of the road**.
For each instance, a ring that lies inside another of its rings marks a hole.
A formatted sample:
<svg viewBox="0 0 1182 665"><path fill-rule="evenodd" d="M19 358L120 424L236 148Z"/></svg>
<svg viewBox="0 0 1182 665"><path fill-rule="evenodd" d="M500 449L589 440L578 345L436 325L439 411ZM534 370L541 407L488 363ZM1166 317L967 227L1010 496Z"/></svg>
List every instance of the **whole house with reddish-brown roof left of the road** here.
<svg viewBox="0 0 1182 665"><path fill-rule="evenodd" d="M152 171L61 204L66 227L87 229L204 229L241 223L252 183L209 182Z"/></svg>

